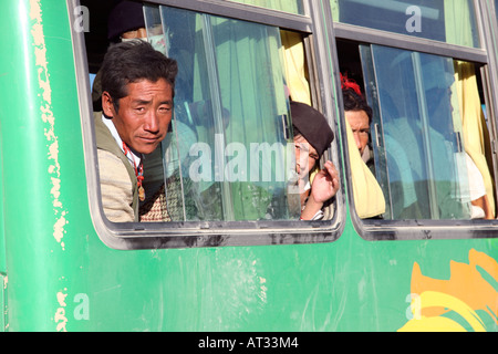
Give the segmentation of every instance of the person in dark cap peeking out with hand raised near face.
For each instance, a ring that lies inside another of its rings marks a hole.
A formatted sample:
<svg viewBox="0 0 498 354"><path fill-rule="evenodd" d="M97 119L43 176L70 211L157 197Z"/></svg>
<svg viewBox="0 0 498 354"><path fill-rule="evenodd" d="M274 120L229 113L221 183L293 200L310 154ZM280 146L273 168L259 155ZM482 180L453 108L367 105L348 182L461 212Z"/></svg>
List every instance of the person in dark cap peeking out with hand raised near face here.
<svg viewBox="0 0 498 354"><path fill-rule="evenodd" d="M295 171L301 195L301 220L324 218L322 208L330 202L339 189L339 174L328 160L314 176L311 186L309 174L323 152L330 147L334 135L325 117L313 107L291 102L292 128L294 132Z"/></svg>

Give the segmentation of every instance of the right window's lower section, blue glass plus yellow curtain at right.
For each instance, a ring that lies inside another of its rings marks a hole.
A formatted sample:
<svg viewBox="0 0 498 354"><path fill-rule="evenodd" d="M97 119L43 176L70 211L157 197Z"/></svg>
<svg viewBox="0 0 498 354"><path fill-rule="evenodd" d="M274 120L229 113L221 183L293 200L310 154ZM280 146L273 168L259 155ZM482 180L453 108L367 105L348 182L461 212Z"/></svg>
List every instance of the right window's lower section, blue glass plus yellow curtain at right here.
<svg viewBox="0 0 498 354"><path fill-rule="evenodd" d="M341 71L364 84L384 219L490 219L494 183L474 64L342 42ZM469 83L474 83L470 85ZM474 111L471 111L474 110ZM354 173L354 171L353 171Z"/></svg>

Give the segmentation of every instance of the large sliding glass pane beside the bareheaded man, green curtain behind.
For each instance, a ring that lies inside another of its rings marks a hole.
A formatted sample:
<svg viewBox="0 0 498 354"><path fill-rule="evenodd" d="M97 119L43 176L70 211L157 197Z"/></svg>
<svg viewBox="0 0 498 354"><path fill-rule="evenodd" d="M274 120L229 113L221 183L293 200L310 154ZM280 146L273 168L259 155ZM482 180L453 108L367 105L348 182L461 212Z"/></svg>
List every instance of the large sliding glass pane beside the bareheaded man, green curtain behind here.
<svg viewBox="0 0 498 354"><path fill-rule="evenodd" d="M145 168L156 187L164 178L172 220L299 218L279 29L168 7L145 14L149 41L179 65L172 132Z"/></svg>

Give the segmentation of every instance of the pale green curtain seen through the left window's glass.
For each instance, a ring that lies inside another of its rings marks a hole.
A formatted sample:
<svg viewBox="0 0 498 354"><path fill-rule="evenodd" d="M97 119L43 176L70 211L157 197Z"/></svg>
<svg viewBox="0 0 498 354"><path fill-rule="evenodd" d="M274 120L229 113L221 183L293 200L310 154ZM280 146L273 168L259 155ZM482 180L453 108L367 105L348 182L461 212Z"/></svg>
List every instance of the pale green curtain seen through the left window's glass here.
<svg viewBox="0 0 498 354"><path fill-rule="evenodd" d="M205 52L210 52L216 63L220 103L228 121L224 131L218 132L214 128L216 119L206 122L204 117L203 129L198 128L199 138L210 146L219 146L216 144L220 142L224 145L220 148L238 148L236 152L220 152L216 148L214 150L220 160L226 159L225 165L221 165L225 170L219 170L222 180L217 183L226 188L219 189L224 191L224 198L211 209L231 208L232 216L226 212L224 220L257 220L270 217L288 219L282 202L287 198L287 179L277 178L282 169L281 156L259 155L258 150L252 149L255 144L258 147L287 145L283 140L281 116L288 113L288 104L279 29L220 17L209 17L208 22L203 21L204 18L199 18L197 22L199 49L194 76L194 101L206 100L212 94L211 82L207 80L204 71L204 62L209 67L209 62L204 58ZM211 33L207 39L200 38L200 34L205 35L205 25L209 25ZM227 154L234 155L228 157ZM237 165L237 162L240 164ZM216 157L212 163L216 163ZM212 166L212 173L217 167L219 165ZM224 174L227 170L232 173L231 168L237 178L230 179L232 176L227 177L227 174ZM253 180L255 170L260 171L260 175ZM269 180L262 171L268 173ZM211 202L219 198L219 191L211 186L209 188ZM267 215L269 209L271 215Z"/></svg>

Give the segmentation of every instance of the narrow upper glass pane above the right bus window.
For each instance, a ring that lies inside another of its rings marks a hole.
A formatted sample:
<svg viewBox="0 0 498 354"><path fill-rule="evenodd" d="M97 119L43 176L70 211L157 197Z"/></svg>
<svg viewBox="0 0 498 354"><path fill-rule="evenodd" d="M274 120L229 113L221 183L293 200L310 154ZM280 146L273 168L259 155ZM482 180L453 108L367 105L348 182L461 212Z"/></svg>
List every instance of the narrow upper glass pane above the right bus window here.
<svg viewBox="0 0 498 354"><path fill-rule="evenodd" d="M479 48L471 0L332 0L334 20Z"/></svg>

